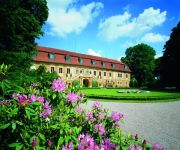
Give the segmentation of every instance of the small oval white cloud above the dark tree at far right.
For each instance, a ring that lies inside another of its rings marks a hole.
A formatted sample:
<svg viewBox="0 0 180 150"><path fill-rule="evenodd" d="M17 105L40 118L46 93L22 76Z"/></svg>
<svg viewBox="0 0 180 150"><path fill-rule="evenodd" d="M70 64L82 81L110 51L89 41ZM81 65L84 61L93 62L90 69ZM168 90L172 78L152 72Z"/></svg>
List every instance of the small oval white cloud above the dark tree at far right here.
<svg viewBox="0 0 180 150"><path fill-rule="evenodd" d="M157 42L165 42L168 39L169 37L166 35L161 35L159 33L158 34L147 33L141 38L141 41L146 43L157 43Z"/></svg>

